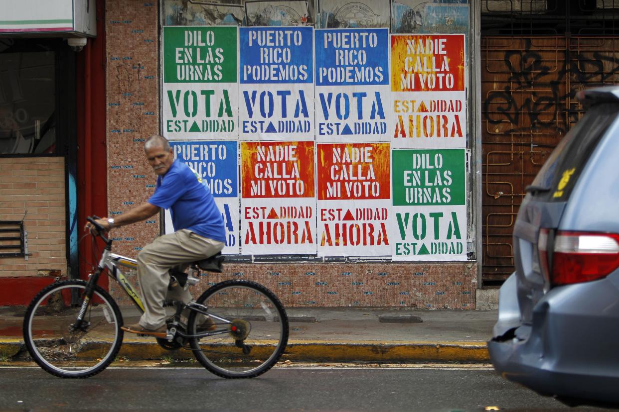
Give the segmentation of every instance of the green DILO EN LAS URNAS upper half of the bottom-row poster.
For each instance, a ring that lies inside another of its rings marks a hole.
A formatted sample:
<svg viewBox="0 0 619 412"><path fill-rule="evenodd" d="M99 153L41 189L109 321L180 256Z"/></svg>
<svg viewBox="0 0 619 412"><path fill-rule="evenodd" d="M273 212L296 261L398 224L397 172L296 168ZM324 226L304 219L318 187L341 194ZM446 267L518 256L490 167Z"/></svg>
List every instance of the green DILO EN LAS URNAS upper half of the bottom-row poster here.
<svg viewBox="0 0 619 412"><path fill-rule="evenodd" d="M393 150L393 205L465 204L464 159L464 149Z"/></svg>

